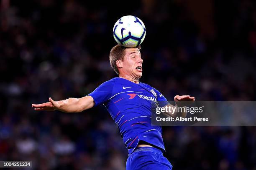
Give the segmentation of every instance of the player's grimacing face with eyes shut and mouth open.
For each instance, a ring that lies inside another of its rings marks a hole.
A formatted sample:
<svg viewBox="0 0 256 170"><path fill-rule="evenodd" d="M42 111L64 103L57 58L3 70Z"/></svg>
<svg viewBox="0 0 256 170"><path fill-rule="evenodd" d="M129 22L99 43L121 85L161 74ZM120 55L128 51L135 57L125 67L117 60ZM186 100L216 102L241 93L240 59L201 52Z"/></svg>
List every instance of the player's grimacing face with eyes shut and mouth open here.
<svg viewBox="0 0 256 170"><path fill-rule="evenodd" d="M126 75L130 75L135 79L142 76L141 52L138 48L126 48L123 58L123 70Z"/></svg>

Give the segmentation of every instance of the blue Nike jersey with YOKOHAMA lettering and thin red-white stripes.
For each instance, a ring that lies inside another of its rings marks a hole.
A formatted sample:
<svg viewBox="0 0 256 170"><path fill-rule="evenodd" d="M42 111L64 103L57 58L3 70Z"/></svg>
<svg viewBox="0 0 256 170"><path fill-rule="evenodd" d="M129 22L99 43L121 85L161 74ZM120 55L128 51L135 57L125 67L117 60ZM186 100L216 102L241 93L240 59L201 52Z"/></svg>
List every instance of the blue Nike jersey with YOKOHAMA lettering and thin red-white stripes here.
<svg viewBox="0 0 256 170"><path fill-rule="evenodd" d="M169 104L155 88L145 83L136 84L115 77L102 83L89 94L95 106L103 104L115 121L123 142L131 154L139 141L145 141L164 149L161 126L151 126L151 110ZM154 108L153 108L154 109Z"/></svg>

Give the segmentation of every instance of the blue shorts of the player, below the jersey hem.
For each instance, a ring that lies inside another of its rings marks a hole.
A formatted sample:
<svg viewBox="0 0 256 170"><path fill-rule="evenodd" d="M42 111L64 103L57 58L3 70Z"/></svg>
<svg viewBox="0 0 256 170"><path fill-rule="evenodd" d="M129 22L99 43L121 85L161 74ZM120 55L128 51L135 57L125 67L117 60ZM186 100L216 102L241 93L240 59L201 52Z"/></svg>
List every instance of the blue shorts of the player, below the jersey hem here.
<svg viewBox="0 0 256 170"><path fill-rule="evenodd" d="M126 170L172 170L172 164L160 149L140 147L128 156Z"/></svg>

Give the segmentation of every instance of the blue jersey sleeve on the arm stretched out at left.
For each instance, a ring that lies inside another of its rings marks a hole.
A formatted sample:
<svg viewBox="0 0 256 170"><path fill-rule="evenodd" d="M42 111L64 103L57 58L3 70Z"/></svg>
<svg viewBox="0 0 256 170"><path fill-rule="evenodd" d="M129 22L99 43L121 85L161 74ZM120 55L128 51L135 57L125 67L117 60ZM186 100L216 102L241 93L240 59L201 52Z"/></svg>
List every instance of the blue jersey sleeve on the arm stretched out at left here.
<svg viewBox="0 0 256 170"><path fill-rule="evenodd" d="M95 106L106 102L112 95L114 87L113 81L103 82L99 87L97 87L93 92L87 96L91 96L95 102Z"/></svg>

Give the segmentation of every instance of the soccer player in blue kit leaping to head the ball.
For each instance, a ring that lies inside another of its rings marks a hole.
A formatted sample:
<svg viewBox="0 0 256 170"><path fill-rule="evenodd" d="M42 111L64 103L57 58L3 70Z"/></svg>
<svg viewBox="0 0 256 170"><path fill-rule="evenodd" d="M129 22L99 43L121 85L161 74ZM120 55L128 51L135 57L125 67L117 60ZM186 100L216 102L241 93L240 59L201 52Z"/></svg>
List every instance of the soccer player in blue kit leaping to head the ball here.
<svg viewBox="0 0 256 170"><path fill-rule="evenodd" d="M32 104L35 110L82 112L93 106L105 105L115 121L123 143L128 149L127 170L171 170L165 152L161 126L151 126L152 102L159 107L169 105L166 98L155 88L139 82L142 76L141 47L114 46L110 51L110 64L118 74L102 83L82 98L69 98L42 104ZM176 95L179 101L195 101L189 95ZM174 106L173 106L174 107Z"/></svg>

